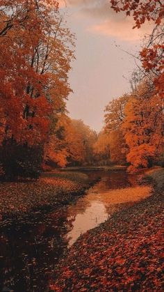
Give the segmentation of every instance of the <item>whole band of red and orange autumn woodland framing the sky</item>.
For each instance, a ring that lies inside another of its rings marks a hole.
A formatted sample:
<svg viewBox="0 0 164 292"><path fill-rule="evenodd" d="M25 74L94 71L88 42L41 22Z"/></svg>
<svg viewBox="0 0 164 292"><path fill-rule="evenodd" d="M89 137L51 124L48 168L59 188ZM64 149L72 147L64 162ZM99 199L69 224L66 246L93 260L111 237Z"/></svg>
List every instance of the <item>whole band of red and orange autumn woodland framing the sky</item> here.
<svg viewBox="0 0 164 292"><path fill-rule="evenodd" d="M136 171L164 163L163 3L110 2L117 13L133 15L136 29L151 21L154 30L136 56L131 92L108 103L97 134L67 113L74 34L58 1L0 1L3 178L38 178L49 167L117 163Z"/></svg>

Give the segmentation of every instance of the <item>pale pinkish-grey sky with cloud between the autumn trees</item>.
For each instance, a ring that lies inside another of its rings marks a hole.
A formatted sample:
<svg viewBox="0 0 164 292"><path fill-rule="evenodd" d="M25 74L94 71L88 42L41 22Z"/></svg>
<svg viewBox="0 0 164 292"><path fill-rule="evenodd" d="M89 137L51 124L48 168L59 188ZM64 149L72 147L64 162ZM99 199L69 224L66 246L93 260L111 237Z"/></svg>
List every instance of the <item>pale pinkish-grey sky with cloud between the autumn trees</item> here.
<svg viewBox="0 0 164 292"><path fill-rule="evenodd" d="M69 83L69 116L82 119L99 132L104 124L104 109L113 98L130 91L129 80L136 69L142 39L148 24L132 29L134 22L124 13L115 13L108 0L60 0L67 26L76 34L76 60ZM126 51L126 52L124 52ZM128 53L129 54L128 54Z"/></svg>

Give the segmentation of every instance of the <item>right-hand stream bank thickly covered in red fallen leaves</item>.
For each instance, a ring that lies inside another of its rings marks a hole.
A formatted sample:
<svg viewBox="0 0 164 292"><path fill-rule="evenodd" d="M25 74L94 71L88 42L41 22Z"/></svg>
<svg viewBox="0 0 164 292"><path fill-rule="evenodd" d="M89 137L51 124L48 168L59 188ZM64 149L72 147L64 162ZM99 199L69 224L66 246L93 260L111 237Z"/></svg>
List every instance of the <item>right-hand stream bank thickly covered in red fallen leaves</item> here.
<svg viewBox="0 0 164 292"><path fill-rule="evenodd" d="M163 291L164 170L154 193L86 232L60 262L52 291Z"/></svg>

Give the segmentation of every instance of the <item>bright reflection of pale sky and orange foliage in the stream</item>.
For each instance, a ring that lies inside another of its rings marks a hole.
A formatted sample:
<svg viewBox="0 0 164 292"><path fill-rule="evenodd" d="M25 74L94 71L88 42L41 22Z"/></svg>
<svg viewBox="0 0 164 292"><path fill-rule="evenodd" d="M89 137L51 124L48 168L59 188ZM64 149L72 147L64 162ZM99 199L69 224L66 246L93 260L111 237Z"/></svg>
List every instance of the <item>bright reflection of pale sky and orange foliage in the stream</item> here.
<svg viewBox="0 0 164 292"><path fill-rule="evenodd" d="M69 246L81 234L94 228L120 208L149 196L151 187L138 185L138 177L124 171L104 173L94 187L75 206L68 207L69 218L74 217L72 230L67 234Z"/></svg>

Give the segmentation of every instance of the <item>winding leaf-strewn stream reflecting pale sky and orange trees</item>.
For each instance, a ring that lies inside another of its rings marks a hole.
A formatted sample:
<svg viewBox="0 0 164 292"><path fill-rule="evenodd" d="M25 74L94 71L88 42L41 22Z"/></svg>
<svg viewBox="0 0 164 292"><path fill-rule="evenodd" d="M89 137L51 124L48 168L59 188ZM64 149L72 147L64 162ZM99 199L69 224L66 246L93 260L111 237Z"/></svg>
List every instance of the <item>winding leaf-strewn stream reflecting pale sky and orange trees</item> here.
<svg viewBox="0 0 164 292"><path fill-rule="evenodd" d="M150 188L139 186L136 176L104 171L99 183L74 205L1 229L0 291L49 291L58 260L82 233L149 194Z"/></svg>

